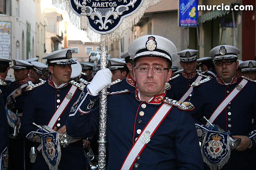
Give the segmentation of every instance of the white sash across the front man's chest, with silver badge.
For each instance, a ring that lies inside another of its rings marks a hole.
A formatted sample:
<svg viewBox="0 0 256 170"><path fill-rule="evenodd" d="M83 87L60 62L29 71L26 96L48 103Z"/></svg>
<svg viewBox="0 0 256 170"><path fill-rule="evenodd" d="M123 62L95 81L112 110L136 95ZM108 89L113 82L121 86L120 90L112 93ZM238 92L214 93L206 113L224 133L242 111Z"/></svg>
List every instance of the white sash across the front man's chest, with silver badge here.
<svg viewBox="0 0 256 170"><path fill-rule="evenodd" d="M140 136L136 140L136 142L133 144L132 148L130 149L130 152L126 156L122 167L120 170L128 170L132 166L134 160L136 159L136 156L142 152L142 150L146 147L147 144L142 143L142 136L145 134L145 132L150 132L150 137L154 134L156 129L159 127L159 125L162 123L166 115L170 112L172 109L172 105L163 104L159 109L156 111L154 116L151 118L151 120L148 122L146 127L143 129L143 131L140 133Z"/></svg>

